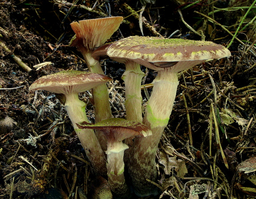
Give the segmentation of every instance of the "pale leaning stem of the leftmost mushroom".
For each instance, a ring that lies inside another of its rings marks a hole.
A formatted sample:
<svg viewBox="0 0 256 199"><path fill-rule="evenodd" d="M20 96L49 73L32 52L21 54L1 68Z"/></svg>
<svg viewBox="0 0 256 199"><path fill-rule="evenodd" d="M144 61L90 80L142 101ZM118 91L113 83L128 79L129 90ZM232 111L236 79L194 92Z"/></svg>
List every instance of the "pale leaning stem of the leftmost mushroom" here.
<svg viewBox="0 0 256 199"><path fill-rule="evenodd" d="M83 146L86 156L95 171L96 175L106 176L106 158L104 152L98 142L92 129L78 129L76 123L86 121L88 119L85 113L86 104L79 100L78 93L66 95L65 109L71 119L76 134Z"/></svg>

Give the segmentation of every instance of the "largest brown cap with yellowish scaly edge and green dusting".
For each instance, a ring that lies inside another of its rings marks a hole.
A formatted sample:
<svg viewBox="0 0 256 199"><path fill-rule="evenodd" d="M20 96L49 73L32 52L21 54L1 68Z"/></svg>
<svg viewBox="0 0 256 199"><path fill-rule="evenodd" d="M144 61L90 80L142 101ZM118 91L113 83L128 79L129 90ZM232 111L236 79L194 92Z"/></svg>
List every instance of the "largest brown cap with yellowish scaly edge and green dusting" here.
<svg viewBox="0 0 256 199"><path fill-rule="evenodd" d="M131 36L107 47L107 55L119 62L131 59L153 70L175 65L173 72L178 72L207 59L230 56L230 51L213 42Z"/></svg>

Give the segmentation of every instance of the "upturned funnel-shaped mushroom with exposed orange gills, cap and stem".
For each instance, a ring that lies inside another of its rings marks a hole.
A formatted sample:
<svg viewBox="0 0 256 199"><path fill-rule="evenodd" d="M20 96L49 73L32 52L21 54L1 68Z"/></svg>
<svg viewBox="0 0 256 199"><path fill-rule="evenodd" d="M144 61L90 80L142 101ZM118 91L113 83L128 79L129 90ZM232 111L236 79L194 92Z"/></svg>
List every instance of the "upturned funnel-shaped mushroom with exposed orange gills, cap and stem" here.
<svg viewBox="0 0 256 199"><path fill-rule="evenodd" d="M88 19L72 22L71 28L76 33L70 45L77 47L85 59L88 69L92 73L104 74L99 61L92 58L92 51L104 44L119 28L123 21L122 16L106 17L100 19ZM95 121L111 118L109 105L109 93L107 86L102 84L92 89ZM97 138L105 150L107 144L104 137L96 131Z"/></svg>

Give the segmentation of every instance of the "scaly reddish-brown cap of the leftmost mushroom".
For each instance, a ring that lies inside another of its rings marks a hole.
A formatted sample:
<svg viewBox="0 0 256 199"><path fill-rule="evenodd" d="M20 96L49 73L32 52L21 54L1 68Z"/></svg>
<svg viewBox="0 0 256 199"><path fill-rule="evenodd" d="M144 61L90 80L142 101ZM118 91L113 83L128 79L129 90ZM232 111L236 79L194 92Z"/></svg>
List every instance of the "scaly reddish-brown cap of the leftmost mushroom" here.
<svg viewBox="0 0 256 199"><path fill-rule="evenodd" d="M28 90L43 89L57 94L64 94L64 89L69 89L80 93L111 80L110 77L97 73L67 70L40 77L31 84Z"/></svg>

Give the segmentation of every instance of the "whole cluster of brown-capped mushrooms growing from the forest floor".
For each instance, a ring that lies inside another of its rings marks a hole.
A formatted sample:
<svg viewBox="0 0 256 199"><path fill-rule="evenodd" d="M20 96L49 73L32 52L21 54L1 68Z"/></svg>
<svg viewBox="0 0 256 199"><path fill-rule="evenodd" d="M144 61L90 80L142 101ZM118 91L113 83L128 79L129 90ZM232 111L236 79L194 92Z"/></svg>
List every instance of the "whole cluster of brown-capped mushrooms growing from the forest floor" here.
<svg viewBox="0 0 256 199"><path fill-rule="evenodd" d="M44 89L56 94L68 112L93 171L107 176L114 197L129 198L131 190L145 197L159 193L149 181L157 179L155 155L175 101L178 72L208 59L230 56L230 51L213 42L159 37L133 36L104 44L122 19L107 17L71 23L76 35L70 45L83 54L90 73L65 71L47 75L36 80L29 90ZM105 84L111 78L103 75L99 62L103 56L126 66L122 76L126 119L112 118ZM157 71L144 115L141 66ZM88 121L85 103L78 98L79 92L89 89L92 89L95 124Z"/></svg>

